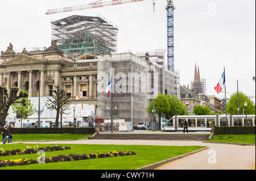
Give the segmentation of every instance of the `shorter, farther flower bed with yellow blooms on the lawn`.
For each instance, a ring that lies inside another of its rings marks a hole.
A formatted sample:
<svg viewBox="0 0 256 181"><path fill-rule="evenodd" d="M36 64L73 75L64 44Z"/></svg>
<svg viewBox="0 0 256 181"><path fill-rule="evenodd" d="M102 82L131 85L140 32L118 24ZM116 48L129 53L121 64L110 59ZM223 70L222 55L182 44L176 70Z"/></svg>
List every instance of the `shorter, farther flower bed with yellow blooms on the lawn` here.
<svg viewBox="0 0 256 181"><path fill-rule="evenodd" d="M39 150L43 150L43 151L60 151L60 150L69 150L71 149L68 146L52 146L49 147L47 146L46 148L38 148L38 146L34 146L34 148L32 148L31 146L27 146L27 149L25 150L20 150L20 149L16 149L16 150L0 150L0 156L6 156L6 155L16 155L16 154L31 154L31 153L37 153Z"/></svg>

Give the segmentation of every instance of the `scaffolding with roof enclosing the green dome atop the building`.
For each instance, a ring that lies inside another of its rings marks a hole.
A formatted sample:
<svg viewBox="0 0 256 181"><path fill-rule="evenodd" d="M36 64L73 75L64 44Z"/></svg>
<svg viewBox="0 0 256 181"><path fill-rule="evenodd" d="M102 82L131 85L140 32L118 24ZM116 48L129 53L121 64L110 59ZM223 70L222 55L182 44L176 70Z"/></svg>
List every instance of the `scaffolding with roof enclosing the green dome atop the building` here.
<svg viewBox="0 0 256 181"><path fill-rule="evenodd" d="M60 20L52 20L52 40L65 54L73 57L88 54L109 55L117 51L118 27L101 15L72 15ZM86 59L87 56L84 58Z"/></svg>

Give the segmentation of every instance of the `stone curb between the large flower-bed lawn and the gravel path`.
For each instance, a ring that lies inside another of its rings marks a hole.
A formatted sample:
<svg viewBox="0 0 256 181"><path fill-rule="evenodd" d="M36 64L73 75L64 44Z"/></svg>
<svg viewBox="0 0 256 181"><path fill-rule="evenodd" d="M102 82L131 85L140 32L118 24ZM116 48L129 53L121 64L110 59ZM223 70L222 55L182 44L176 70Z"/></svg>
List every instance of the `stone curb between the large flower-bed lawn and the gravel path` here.
<svg viewBox="0 0 256 181"><path fill-rule="evenodd" d="M173 162L173 161L175 161L175 160L177 160L177 159L181 159L181 158L187 157L188 155L195 154L195 153L198 153L198 152L203 151L203 150L206 150L206 149L209 149L209 147L203 148L203 149L200 149L200 150L196 150L196 151L192 151L192 152L190 152L190 153L186 153L186 154L183 154L183 155L174 157L174 158L169 158L169 159L166 159L166 160L164 160L164 161L157 162L157 163L153 163L153 164L151 164L151 165L144 166L144 167L141 167L141 168L135 169L135 170L154 170L154 169L156 169L157 167L162 166L162 165L164 165L164 164L166 164L166 163Z"/></svg>

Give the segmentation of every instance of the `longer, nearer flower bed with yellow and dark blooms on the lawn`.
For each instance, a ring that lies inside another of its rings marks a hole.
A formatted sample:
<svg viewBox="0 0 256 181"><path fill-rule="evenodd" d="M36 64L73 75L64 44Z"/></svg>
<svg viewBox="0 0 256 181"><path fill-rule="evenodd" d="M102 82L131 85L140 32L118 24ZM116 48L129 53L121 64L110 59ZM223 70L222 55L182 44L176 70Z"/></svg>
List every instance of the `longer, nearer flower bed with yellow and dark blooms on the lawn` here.
<svg viewBox="0 0 256 181"><path fill-rule="evenodd" d="M77 155L77 154L70 154L68 156L66 155L58 155L57 157L51 157L51 158L42 158L39 157L40 161L45 161L45 163L53 163L53 162L65 162L65 161L76 161L76 160L82 160L82 159L94 159L94 158L106 158L106 157L121 157L125 155L134 155L133 151L110 151L108 153L90 153L89 156L86 154ZM38 159L10 159L1 161L0 160L0 167L6 167L6 166L18 166L18 165L31 165L38 163Z"/></svg>

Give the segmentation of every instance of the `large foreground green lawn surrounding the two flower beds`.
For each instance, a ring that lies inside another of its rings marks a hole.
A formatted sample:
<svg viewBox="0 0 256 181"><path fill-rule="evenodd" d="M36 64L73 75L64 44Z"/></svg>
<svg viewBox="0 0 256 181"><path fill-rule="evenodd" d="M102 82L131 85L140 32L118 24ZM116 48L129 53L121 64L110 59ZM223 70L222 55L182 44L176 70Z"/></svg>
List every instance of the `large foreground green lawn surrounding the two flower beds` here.
<svg viewBox="0 0 256 181"><path fill-rule="evenodd" d="M26 149L27 146L56 146L53 144L6 144L0 145L2 149ZM33 164L24 166L1 167L1 170L133 170L139 167L151 165L168 158L177 157L185 153L205 148L204 146L149 146L149 145L82 145L82 144L59 144L58 146L69 146L71 150L49 151L46 157L69 154L106 153L108 151L134 151L137 155L123 157L96 158L80 161L67 161L45 164ZM37 159L38 154L22 154L0 156L0 160L9 159Z"/></svg>

